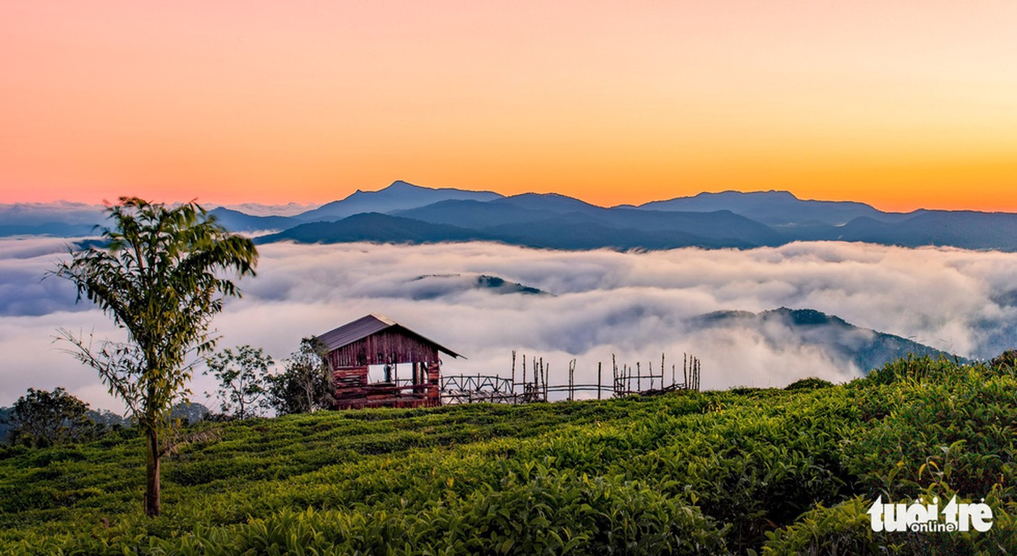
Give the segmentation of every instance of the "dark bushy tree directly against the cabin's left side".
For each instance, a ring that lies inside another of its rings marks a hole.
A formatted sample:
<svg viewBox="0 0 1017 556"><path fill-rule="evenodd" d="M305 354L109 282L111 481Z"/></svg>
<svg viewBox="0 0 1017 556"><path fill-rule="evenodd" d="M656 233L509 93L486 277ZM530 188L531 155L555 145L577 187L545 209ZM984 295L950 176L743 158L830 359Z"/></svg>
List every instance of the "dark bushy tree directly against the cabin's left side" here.
<svg viewBox="0 0 1017 556"><path fill-rule="evenodd" d="M286 370L266 376L270 404L279 415L313 413L336 405L328 348L317 337L300 341L286 360Z"/></svg>

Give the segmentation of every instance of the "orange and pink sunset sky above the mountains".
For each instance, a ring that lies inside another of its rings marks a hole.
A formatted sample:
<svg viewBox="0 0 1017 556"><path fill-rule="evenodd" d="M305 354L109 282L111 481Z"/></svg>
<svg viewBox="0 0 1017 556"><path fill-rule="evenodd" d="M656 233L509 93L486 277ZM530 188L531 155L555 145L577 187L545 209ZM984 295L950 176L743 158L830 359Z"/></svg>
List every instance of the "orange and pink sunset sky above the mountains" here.
<svg viewBox="0 0 1017 556"><path fill-rule="evenodd" d="M403 179L1017 211L1014 29L1004 0L6 0L0 202Z"/></svg>

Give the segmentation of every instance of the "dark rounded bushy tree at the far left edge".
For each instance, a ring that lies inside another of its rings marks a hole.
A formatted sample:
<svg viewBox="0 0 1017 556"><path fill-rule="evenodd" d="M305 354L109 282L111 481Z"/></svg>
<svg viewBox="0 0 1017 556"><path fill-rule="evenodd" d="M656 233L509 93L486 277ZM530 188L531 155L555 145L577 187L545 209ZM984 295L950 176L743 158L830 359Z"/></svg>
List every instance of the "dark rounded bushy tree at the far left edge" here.
<svg viewBox="0 0 1017 556"><path fill-rule="evenodd" d="M11 408L11 442L27 441L48 446L70 440L92 429L88 405L63 388L52 392L28 388Z"/></svg>

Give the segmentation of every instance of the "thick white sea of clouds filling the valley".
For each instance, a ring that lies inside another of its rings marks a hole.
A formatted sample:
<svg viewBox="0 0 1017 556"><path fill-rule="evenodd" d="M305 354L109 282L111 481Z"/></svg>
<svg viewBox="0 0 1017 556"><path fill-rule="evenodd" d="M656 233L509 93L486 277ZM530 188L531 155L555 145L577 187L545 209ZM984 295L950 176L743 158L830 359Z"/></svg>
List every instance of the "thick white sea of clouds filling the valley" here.
<svg viewBox="0 0 1017 556"><path fill-rule="evenodd" d="M92 369L54 343L58 327L118 337L110 319L72 286L44 275L68 240L0 239L0 406L28 387L64 386L94 407L122 411ZM862 372L786 328L702 328L693 317L717 310L810 308L857 326L898 334L964 357L1017 347L1017 253L792 243L751 250L654 252L536 250L490 243L259 247L256 277L241 281L215 320L220 347L249 344L276 359L318 334L381 313L463 355L444 372L511 371L512 351L550 364L565 382L596 382L619 363L652 361L659 372L683 353L702 360L704 388L783 386ZM416 280L419 276L438 276ZM450 280L447 274L461 274ZM478 274L552 295L498 294L472 287ZM518 369L519 371L519 369ZM669 375L669 373L668 373ZM214 389L195 377L194 399Z"/></svg>

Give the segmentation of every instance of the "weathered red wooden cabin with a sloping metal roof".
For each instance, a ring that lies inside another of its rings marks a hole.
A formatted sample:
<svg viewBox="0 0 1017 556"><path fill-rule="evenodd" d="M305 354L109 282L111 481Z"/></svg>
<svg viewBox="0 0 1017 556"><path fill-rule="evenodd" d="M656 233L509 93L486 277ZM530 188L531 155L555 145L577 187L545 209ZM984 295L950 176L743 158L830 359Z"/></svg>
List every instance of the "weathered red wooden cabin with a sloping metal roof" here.
<svg viewBox="0 0 1017 556"><path fill-rule="evenodd" d="M358 318L317 337L328 348L336 400L341 410L439 406L439 354L462 357L377 314ZM372 365L383 366L380 380L371 380ZM400 376L400 365L404 367L403 374L409 376Z"/></svg>

